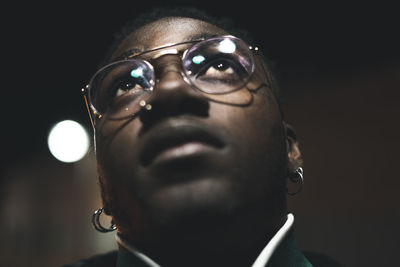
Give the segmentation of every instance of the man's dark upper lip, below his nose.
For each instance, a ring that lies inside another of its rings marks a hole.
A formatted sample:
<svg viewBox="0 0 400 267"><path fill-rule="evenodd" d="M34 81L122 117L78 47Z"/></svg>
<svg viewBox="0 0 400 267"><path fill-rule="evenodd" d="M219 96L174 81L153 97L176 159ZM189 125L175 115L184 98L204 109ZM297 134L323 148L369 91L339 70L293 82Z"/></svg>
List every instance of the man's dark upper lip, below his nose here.
<svg viewBox="0 0 400 267"><path fill-rule="evenodd" d="M188 142L201 142L216 148L225 146L218 130L192 120L168 120L143 137L140 161L144 166L150 164L162 151Z"/></svg>

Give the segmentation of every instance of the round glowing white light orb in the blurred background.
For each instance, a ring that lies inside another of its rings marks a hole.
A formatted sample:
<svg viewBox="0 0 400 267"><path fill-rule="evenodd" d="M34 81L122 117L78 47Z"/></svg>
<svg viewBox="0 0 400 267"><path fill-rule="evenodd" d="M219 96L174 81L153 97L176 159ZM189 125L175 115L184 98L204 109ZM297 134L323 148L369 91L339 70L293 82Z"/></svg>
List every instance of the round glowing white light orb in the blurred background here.
<svg viewBox="0 0 400 267"><path fill-rule="evenodd" d="M89 150L89 135L81 124L65 120L51 128L47 144L51 154L59 161L76 162Z"/></svg>

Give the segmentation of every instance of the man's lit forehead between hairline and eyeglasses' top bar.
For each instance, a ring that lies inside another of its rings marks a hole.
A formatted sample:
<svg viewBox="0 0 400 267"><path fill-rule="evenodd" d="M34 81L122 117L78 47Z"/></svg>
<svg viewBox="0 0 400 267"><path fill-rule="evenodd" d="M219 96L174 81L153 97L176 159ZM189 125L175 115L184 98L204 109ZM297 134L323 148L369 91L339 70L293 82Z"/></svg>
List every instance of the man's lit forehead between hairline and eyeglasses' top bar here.
<svg viewBox="0 0 400 267"><path fill-rule="evenodd" d="M132 49L145 51L165 44L193 40L198 36L224 34L228 34L228 32L205 21L167 17L146 24L130 33L118 46L112 58Z"/></svg>

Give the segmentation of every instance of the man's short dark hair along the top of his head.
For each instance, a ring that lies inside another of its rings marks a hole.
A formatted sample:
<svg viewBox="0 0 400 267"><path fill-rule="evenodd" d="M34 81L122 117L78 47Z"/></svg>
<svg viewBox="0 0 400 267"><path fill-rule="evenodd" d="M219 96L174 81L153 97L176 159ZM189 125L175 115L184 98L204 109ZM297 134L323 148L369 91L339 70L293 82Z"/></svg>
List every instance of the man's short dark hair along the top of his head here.
<svg viewBox="0 0 400 267"><path fill-rule="evenodd" d="M192 7L192 6L174 6L174 7L153 7L149 10L146 10L140 15L134 17L132 20L128 21L121 30L115 35L114 41L111 43L108 51L106 53L105 58L103 59L101 66L107 64L113 53L118 49L118 46L122 43L122 41L133 31L139 29L140 27L149 24L153 21L160 20L166 17L187 17L198 19L202 21L206 21L211 23L225 31L229 32L230 34L244 40L248 44L255 44L255 39L252 34L243 28L240 28L236 25L231 18L225 16L216 16L211 15L209 12L206 12L200 8ZM261 49L262 50L262 49ZM268 59L264 53L259 51L261 58L263 59L264 63L268 66L268 71L270 72L270 79L271 79L271 90L275 96L276 101L278 102L279 111L283 117L282 111L282 103L281 103L281 96L279 86L275 77L275 63Z"/></svg>

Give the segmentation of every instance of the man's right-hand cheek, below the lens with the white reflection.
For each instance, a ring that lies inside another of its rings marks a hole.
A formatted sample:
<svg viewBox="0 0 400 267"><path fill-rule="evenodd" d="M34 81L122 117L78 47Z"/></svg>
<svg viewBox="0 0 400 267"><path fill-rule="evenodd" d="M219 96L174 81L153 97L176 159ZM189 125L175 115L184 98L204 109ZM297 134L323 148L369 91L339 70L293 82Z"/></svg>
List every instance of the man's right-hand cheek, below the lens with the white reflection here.
<svg viewBox="0 0 400 267"><path fill-rule="evenodd" d="M210 113L229 133L231 168L246 185L240 190L264 194L265 187L272 188L282 178L285 166L284 130L274 98L258 93L249 106L213 104Z"/></svg>

